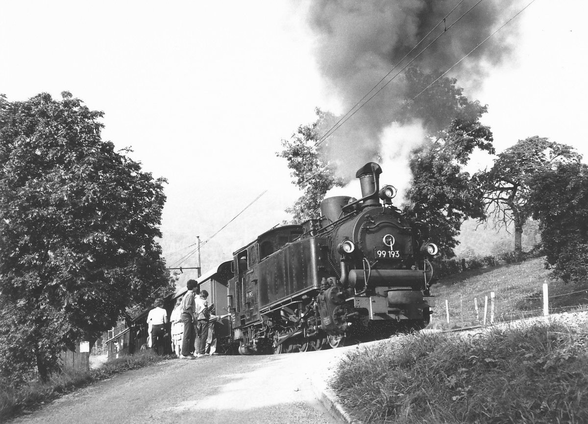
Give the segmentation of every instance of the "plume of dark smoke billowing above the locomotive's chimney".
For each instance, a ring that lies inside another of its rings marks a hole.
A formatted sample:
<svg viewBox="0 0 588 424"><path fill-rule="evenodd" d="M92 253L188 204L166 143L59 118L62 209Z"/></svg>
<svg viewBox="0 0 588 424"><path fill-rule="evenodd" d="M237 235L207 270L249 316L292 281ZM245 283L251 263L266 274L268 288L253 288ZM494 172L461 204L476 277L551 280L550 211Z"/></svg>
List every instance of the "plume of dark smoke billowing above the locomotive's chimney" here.
<svg viewBox="0 0 588 424"><path fill-rule="evenodd" d="M417 52L477 2L463 1ZM513 8L513 2L508 6L505 3L503 0L480 2L423 52L414 65L439 74L449 69L512 16L508 8ZM317 35L316 60L345 112L457 4L459 0L313 1L309 7L309 24ZM466 89L480 86L493 66L509 57L513 33L517 31L515 24L505 27L453 69L452 76L458 79L459 85ZM416 52L412 53L402 64L415 55ZM379 159L383 130L395 122L395 112L406 97L416 94L407 92L402 74L392 80L326 139L323 148L330 159L338 163L340 170L349 172L366 161Z"/></svg>

